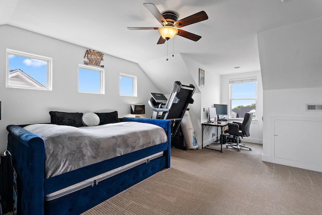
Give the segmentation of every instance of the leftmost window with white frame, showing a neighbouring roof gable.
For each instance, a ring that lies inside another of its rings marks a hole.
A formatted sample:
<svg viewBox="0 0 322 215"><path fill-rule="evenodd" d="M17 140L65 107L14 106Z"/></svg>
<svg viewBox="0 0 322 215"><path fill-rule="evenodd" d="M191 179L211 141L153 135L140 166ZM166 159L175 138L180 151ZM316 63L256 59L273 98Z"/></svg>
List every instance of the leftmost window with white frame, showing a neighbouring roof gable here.
<svg viewBox="0 0 322 215"><path fill-rule="evenodd" d="M52 58L7 49L6 86L52 90Z"/></svg>

